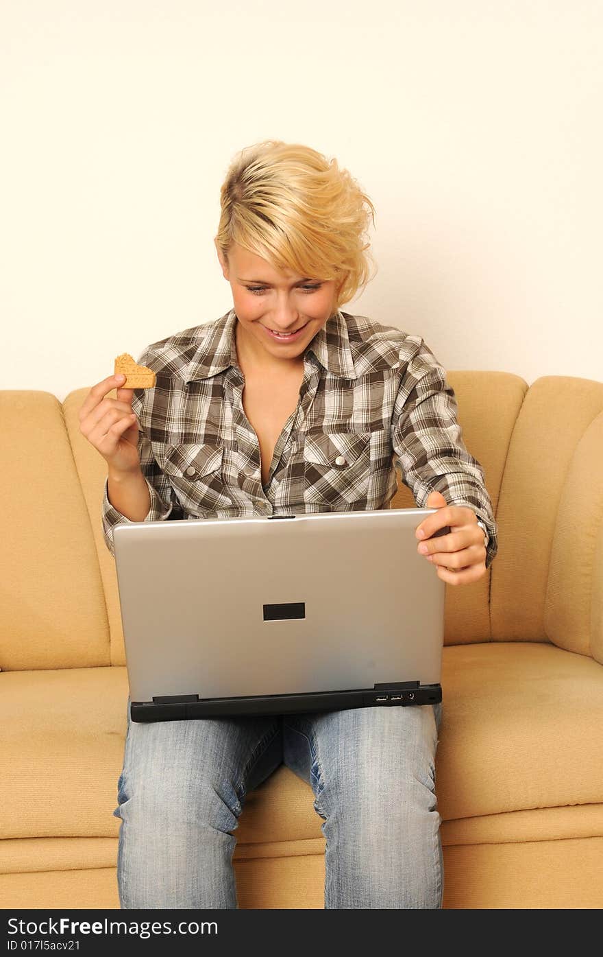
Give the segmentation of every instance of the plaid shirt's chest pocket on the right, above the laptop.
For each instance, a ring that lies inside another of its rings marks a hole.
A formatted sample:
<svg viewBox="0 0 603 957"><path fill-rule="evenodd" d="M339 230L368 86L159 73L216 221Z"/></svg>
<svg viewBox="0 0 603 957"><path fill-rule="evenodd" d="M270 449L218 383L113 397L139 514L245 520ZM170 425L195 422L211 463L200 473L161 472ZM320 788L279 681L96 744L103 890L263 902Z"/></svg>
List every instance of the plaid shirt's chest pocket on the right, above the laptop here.
<svg viewBox="0 0 603 957"><path fill-rule="evenodd" d="M371 507L372 433L309 432L303 436L304 501L330 509Z"/></svg>

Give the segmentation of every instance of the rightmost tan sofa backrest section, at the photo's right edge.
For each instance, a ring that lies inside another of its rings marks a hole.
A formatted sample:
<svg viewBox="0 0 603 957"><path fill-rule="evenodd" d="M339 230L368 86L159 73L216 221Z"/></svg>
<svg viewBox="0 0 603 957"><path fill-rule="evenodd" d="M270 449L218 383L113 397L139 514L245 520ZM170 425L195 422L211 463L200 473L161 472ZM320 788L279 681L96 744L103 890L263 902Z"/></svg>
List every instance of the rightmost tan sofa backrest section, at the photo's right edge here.
<svg viewBox="0 0 603 957"><path fill-rule="evenodd" d="M498 502L494 640L549 640L601 660L602 413L603 383L591 379L543 376L528 389Z"/></svg>

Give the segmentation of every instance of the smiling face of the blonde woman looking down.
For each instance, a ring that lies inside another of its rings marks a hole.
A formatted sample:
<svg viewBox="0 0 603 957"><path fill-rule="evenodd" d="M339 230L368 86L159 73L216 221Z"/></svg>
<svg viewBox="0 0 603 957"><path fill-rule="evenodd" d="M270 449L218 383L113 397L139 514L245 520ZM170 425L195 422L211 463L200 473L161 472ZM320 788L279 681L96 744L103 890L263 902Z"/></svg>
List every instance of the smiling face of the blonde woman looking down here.
<svg viewBox="0 0 603 957"><path fill-rule="evenodd" d="M334 314L335 280L280 272L236 243L227 261L217 243L216 249L239 320L237 349L241 346L248 359L265 367L299 365L313 337ZM279 339L273 334L277 332L295 335Z"/></svg>

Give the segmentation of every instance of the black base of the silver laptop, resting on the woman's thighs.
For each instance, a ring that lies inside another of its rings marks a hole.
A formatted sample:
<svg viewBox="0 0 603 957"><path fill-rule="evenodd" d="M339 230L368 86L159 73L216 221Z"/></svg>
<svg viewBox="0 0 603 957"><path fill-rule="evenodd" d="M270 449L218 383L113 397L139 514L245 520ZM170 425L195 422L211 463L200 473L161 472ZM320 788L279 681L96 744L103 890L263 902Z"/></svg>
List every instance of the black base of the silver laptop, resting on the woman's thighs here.
<svg viewBox="0 0 603 957"><path fill-rule="evenodd" d="M189 718L238 718L245 715L297 714L304 711L341 711L346 708L437 704L441 684L407 681L377 688L325 691L303 695L259 695L252 698L210 698L168 695L153 701L131 701L133 722L183 721Z"/></svg>

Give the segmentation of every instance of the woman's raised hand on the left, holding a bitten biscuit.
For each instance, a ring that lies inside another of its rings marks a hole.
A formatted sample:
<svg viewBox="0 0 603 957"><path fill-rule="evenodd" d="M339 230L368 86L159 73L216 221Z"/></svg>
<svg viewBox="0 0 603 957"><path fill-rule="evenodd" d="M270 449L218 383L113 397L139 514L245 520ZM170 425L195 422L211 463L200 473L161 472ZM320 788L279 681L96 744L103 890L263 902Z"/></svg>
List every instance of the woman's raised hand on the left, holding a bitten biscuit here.
<svg viewBox="0 0 603 957"><path fill-rule="evenodd" d="M140 470L139 423L132 412L134 389L119 389L123 375L112 375L88 392L79 410L79 431L106 460L116 474ZM117 389L117 399L107 398Z"/></svg>

